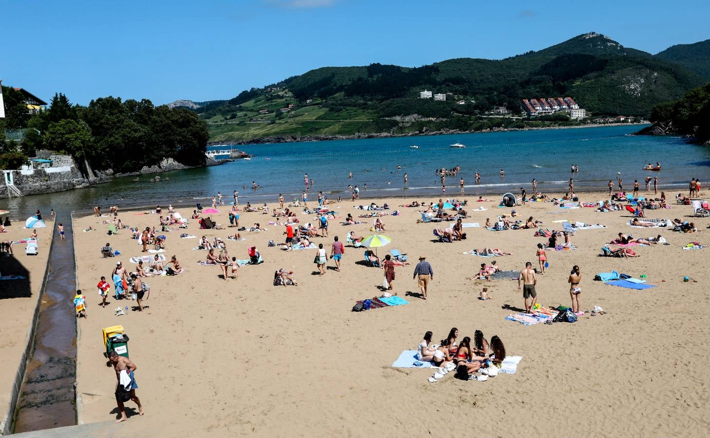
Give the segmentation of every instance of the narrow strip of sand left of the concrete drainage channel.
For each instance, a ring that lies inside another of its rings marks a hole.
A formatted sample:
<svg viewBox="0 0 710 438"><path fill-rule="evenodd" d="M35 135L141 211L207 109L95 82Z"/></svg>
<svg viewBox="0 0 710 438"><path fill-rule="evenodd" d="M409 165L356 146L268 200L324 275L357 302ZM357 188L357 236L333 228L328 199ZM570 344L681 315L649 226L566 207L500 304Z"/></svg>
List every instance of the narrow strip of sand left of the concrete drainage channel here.
<svg viewBox="0 0 710 438"><path fill-rule="evenodd" d="M54 223L46 221L48 228L36 229L37 255L26 255L26 244L17 243L13 245L13 257L0 256L0 274L27 277L26 280L0 281L0 421L8 412L17 367L27 346L27 333L47 267ZM0 240L18 242L30 237L32 230L23 228L24 225L21 220L13 222L6 227L7 232L0 235Z"/></svg>

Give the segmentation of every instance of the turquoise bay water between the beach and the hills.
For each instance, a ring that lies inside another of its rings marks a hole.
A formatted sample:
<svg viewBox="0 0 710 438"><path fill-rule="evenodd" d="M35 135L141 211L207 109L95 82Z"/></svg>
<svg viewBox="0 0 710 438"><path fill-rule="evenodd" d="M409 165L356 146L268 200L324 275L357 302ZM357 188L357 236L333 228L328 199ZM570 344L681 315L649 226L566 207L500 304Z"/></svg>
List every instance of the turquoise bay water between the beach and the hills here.
<svg viewBox="0 0 710 438"><path fill-rule="evenodd" d="M660 188L670 192L684 191L691 178L710 179L710 147L690 144L681 137L630 135L639 129L633 125L242 145L239 149L253 154L251 160L165 172L160 176L170 181L159 183L149 182L151 176L141 176L141 182L126 177L89 189L13 198L1 201L0 208L40 208L45 213L50 208L92 210L96 205L126 208L201 202L204 206L217 191L231 201L234 189L239 190L240 203L273 202L278 193L287 200L300 196L304 173L315 181L310 199L317 197L317 191L331 198L349 197L349 184L359 186L361 197L434 196L441 193L435 169L457 165L461 171L447 177L447 195L460 193L461 176L466 196L519 193L521 186L530 192L533 178L538 190L562 193L571 176L577 190L606 190L609 179L616 182L617 172L628 190L634 179L643 188L645 176L658 176ZM449 145L454 142L466 148L452 149ZM411 149L411 145L420 148ZM662 170L643 171L645 162L661 162ZM572 164L579 166L579 173L570 173ZM398 165L402 168L397 169ZM501 169L506 172L503 179ZM481 184L474 184L474 172L481 174ZM261 188L252 190L252 181Z"/></svg>

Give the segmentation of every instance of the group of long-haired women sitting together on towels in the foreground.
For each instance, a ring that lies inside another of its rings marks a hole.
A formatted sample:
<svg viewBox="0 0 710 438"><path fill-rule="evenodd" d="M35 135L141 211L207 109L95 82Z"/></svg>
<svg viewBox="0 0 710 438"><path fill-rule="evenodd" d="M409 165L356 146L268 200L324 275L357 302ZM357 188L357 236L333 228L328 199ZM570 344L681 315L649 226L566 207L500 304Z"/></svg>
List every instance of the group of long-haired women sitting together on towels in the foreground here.
<svg viewBox="0 0 710 438"><path fill-rule="evenodd" d="M501 338L491 337L488 344L481 330L474 332L474 340L466 336L457 344L459 330L454 327L449 331L449 336L442 339L440 344L432 344L432 332L426 332L424 339L417 347L417 360L431 361L434 366L446 366L453 363L457 368L466 366L466 372L471 375L479 369L488 366L501 368L503 359L506 359L506 347Z"/></svg>

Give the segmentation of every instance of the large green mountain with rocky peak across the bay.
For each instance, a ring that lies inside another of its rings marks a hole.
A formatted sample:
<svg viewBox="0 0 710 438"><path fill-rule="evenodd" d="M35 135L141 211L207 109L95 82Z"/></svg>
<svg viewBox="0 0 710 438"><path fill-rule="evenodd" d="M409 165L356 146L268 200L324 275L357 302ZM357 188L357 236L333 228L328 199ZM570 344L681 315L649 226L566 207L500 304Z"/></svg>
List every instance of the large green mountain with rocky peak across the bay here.
<svg viewBox="0 0 710 438"><path fill-rule="evenodd" d="M586 33L503 60L322 67L195 111L214 141L526 128L542 122L486 113L500 106L520 113L521 99L571 96L594 116L644 117L704 82L679 64ZM447 100L418 99L424 90ZM554 120L572 123L565 116Z"/></svg>

